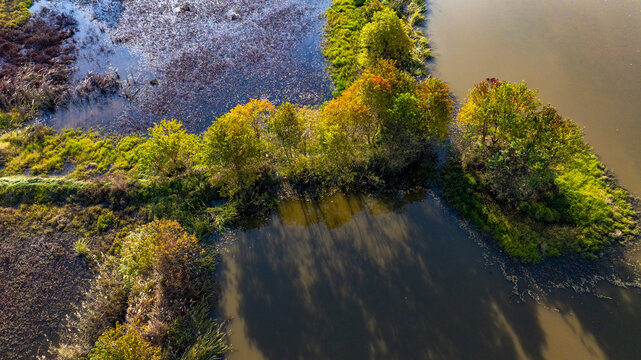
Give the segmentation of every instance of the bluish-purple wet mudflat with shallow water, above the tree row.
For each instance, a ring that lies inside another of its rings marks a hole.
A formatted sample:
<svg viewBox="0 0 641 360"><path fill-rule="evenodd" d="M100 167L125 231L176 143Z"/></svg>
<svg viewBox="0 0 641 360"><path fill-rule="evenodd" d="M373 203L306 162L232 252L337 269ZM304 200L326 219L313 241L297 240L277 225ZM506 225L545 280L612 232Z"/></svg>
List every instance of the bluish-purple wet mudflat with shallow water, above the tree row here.
<svg viewBox="0 0 641 360"><path fill-rule="evenodd" d="M328 1L42 0L78 22L77 86L116 74L116 96L71 102L56 128L145 131L163 118L201 131L251 98L319 104L331 97L321 52Z"/></svg>

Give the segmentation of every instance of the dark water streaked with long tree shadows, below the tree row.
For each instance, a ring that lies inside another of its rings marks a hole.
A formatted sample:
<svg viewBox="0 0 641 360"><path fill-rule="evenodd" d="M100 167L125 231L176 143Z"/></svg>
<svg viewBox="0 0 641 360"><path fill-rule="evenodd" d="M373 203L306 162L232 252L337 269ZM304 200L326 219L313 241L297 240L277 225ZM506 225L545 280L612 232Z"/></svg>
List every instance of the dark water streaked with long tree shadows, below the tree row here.
<svg viewBox="0 0 641 360"><path fill-rule="evenodd" d="M639 358L638 288L517 289L477 239L429 194L283 203L223 247L229 358Z"/></svg>

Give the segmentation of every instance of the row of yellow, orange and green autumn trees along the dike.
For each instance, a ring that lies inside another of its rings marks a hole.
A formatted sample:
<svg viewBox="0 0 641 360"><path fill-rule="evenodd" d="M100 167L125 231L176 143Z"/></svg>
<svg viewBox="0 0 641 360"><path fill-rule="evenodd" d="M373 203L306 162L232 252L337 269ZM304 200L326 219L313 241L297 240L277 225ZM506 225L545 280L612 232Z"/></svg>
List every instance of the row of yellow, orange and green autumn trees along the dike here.
<svg viewBox="0 0 641 360"><path fill-rule="evenodd" d="M202 136L163 120L137 152L143 173L208 171L234 194L265 173L348 179L374 164L402 168L428 140L447 137L451 113L445 83L416 81L393 61L381 60L320 109L251 100L218 118Z"/></svg>

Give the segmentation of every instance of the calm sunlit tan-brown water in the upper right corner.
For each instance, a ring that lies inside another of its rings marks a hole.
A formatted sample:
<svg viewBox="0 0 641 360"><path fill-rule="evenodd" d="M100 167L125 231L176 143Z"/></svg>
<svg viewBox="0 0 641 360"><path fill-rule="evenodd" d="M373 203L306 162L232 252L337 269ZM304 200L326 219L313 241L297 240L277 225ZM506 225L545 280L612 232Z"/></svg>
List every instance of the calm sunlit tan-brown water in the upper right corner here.
<svg viewBox="0 0 641 360"><path fill-rule="evenodd" d="M526 81L585 127L641 195L641 1L431 0L435 75L460 100L487 77Z"/></svg>

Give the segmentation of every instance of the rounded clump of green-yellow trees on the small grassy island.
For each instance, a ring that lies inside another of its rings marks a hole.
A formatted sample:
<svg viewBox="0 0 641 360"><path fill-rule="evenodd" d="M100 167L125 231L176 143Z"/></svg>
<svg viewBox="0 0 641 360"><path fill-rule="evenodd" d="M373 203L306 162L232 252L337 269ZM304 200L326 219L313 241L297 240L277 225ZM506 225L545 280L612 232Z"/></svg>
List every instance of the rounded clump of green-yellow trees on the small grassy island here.
<svg viewBox="0 0 641 360"><path fill-rule="evenodd" d="M524 83L488 79L459 112L465 166L494 196L537 200L554 187L555 168L585 148L580 129Z"/></svg>

